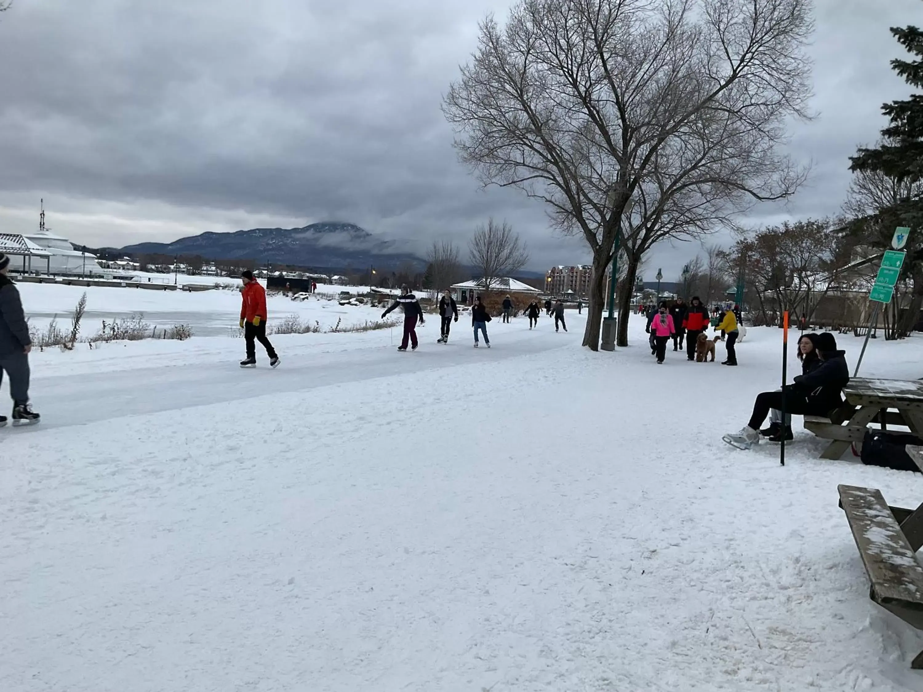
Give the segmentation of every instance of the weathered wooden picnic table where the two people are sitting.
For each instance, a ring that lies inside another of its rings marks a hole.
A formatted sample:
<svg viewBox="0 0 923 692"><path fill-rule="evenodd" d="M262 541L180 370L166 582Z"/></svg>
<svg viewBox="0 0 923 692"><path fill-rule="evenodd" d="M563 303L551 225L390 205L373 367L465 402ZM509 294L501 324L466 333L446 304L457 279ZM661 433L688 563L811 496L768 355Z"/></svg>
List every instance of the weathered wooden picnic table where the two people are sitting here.
<svg viewBox="0 0 923 692"><path fill-rule="evenodd" d="M855 377L843 388L845 404L829 418L805 416L805 428L831 440L821 459L840 459L854 443L861 443L869 423L882 429L904 425L923 436L923 381Z"/></svg>

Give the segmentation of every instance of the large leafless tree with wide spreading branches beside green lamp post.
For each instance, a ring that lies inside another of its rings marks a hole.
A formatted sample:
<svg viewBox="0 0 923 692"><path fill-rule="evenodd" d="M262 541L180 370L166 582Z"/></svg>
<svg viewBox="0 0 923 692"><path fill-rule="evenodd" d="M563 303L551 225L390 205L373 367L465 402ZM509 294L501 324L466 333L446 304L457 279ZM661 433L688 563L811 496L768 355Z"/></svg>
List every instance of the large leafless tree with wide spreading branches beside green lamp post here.
<svg viewBox="0 0 923 692"><path fill-rule="evenodd" d="M809 0L520 0L481 24L443 111L482 183L543 200L590 245L585 346L617 239L633 285L657 240L794 192L803 172L776 146L807 117L811 30Z"/></svg>

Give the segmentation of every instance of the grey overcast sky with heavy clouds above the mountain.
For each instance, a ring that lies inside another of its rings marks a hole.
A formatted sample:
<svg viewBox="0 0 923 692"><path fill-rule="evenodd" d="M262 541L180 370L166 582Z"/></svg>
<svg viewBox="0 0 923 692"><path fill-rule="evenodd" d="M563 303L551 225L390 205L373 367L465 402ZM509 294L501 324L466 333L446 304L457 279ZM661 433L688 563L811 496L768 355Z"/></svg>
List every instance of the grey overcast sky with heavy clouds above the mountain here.
<svg viewBox="0 0 923 692"><path fill-rule="evenodd" d="M91 246L336 220L420 251L493 215L527 240L530 268L588 261L540 203L480 188L439 110L478 20L509 5L17 0L0 15L0 232L34 230L40 197L55 232ZM923 24L921 0L816 7L819 117L791 143L813 173L754 224L836 213L847 157L907 93L888 28ZM658 247L647 273L675 278L698 250Z"/></svg>

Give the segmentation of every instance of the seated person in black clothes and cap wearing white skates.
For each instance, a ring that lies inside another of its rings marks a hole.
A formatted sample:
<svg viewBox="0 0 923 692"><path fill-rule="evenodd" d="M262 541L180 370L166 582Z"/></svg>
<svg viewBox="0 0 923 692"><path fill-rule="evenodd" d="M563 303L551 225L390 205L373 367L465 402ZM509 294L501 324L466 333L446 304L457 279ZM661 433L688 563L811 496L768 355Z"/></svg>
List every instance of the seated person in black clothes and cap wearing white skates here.
<svg viewBox="0 0 923 692"><path fill-rule="evenodd" d="M783 408L793 415L826 416L843 405L843 388L849 383L849 367L845 351L838 351L836 338L829 331L818 335L817 354L821 364L807 375L799 375L795 383L785 385L785 391L764 391L757 395L753 414L739 433L722 439L732 447L749 449L760 443L760 426L771 409Z"/></svg>

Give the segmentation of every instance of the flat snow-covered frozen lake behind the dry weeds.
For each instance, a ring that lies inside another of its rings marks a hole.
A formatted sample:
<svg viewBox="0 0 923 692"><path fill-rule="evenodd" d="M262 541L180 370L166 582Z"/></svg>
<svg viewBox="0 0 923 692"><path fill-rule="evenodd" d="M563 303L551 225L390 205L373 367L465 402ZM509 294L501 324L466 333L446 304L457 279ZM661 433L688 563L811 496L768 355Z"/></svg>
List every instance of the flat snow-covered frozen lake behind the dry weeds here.
<svg viewBox="0 0 923 692"><path fill-rule="evenodd" d="M201 278L201 277L197 277ZM234 282L235 288L240 281ZM70 324L70 315L83 292L87 293L87 313L82 334L92 336L102 321L125 319L141 313L151 328L189 324L198 336L227 336L236 333L240 317L240 293L230 289L212 291L150 291L110 286L66 286L53 283L19 283L18 289L30 322L47 328L56 316L58 325ZM356 289L350 289L355 291ZM341 321L343 327L380 319L381 310L362 305L343 305L326 298L312 297L293 301L282 295L267 297L270 320L296 315L304 322L318 322L321 329Z"/></svg>

